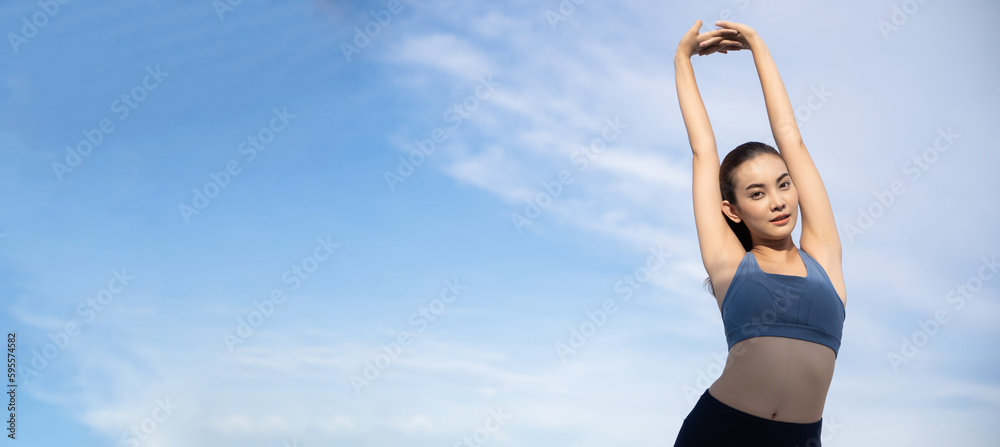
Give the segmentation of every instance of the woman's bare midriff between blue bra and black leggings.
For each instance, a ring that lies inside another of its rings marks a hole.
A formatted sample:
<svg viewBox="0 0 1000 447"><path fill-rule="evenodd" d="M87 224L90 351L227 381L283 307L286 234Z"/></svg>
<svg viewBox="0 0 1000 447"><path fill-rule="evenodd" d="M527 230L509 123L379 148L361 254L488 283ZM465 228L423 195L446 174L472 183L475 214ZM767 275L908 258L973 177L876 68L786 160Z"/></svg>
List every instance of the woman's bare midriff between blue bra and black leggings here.
<svg viewBox="0 0 1000 447"><path fill-rule="evenodd" d="M836 355L828 346L784 337L755 337L729 350L726 367L709 387L720 402L782 422L814 423L823 416Z"/></svg>

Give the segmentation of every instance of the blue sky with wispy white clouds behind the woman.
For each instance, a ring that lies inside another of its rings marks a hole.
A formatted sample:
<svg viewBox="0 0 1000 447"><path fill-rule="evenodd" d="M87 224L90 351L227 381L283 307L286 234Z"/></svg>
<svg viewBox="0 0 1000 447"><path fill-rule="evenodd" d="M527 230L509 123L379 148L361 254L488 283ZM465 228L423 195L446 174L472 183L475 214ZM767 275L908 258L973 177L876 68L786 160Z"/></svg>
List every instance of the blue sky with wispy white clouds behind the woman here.
<svg viewBox="0 0 1000 447"><path fill-rule="evenodd" d="M726 352L672 56L726 17L840 227L824 445L993 445L995 2L562 3L0 6L21 445L672 443Z"/></svg>

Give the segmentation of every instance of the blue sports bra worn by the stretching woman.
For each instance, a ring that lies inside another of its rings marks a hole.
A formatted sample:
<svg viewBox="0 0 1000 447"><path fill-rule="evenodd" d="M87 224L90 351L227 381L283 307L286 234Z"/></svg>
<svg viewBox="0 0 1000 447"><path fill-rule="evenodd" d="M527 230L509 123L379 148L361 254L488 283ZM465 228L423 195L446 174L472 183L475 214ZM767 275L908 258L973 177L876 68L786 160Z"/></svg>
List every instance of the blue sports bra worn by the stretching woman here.
<svg viewBox="0 0 1000 447"><path fill-rule="evenodd" d="M798 248L796 247L796 250ZM736 268L722 299L726 341L754 337L786 337L840 350L846 312L823 266L802 250L806 276L767 273L751 252Z"/></svg>

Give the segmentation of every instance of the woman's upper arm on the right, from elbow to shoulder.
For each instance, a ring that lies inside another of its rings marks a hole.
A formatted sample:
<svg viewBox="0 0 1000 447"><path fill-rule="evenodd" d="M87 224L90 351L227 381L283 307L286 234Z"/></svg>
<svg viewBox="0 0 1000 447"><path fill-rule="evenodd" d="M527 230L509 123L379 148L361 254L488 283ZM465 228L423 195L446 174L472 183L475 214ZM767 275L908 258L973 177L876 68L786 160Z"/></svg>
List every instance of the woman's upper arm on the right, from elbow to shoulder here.
<svg viewBox="0 0 1000 447"><path fill-rule="evenodd" d="M823 179L813 163L804 143L780 148L781 157L788 166L788 174L799 194L802 220L802 237L799 246L806 252L831 261L841 259L842 247L833 207L826 193Z"/></svg>

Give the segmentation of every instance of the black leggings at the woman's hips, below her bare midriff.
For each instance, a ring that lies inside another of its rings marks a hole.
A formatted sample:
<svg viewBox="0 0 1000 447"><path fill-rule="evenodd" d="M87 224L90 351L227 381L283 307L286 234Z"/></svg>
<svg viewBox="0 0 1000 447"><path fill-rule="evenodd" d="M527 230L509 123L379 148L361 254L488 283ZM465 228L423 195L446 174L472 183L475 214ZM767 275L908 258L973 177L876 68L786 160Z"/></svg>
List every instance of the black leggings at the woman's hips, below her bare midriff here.
<svg viewBox="0 0 1000 447"><path fill-rule="evenodd" d="M822 427L823 418L800 424L744 413L706 389L684 418L674 447L820 447Z"/></svg>

